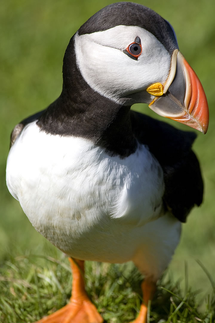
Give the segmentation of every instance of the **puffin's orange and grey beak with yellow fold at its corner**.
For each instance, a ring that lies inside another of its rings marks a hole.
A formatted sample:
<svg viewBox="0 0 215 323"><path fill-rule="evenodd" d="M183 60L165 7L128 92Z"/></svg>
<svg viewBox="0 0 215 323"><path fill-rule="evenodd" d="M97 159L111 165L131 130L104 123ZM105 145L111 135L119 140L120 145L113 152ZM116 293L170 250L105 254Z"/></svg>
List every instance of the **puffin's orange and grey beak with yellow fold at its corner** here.
<svg viewBox="0 0 215 323"><path fill-rule="evenodd" d="M177 49L172 54L165 84L155 83L146 90L155 96L149 104L154 112L204 134L207 132L209 111L205 92L196 73Z"/></svg>

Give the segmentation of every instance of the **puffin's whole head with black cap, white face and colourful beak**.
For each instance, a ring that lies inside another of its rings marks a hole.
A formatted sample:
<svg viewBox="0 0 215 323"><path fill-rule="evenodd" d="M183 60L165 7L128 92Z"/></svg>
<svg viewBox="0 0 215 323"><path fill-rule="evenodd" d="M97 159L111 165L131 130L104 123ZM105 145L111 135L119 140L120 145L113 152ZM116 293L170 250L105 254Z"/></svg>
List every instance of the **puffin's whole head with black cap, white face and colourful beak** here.
<svg viewBox="0 0 215 323"><path fill-rule="evenodd" d="M201 83L172 26L153 10L130 2L108 5L73 41L77 68L95 92L124 106L147 103L157 114L206 133Z"/></svg>

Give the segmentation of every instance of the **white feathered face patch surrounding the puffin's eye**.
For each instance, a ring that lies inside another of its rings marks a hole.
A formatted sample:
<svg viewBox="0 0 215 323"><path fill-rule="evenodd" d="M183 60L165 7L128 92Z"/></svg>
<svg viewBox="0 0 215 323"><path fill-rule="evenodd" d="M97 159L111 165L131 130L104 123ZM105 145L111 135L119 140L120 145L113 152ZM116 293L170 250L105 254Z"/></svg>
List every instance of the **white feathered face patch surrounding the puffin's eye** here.
<svg viewBox="0 0 215 323"><path fill-rule="evenodd" d="M123 53L139 36L142 54L134 60ZM75 35L77 66L89 86L114 101L149 85L165 82L171 57L147 30L137 26L116 26L109 30Z"/></svg>

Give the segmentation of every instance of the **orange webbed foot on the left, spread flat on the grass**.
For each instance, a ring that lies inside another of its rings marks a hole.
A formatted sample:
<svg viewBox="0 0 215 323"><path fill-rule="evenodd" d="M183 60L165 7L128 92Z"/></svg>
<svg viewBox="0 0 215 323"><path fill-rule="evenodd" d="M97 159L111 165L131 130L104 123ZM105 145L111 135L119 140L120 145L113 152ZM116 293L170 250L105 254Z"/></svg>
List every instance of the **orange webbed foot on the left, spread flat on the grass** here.
<svg viewBox="0 0 215 323"><path fill-rule="evenodd" d="M103 318L89 299L82 304L70 302L53 314L35 323L102 323Z"/></svg>

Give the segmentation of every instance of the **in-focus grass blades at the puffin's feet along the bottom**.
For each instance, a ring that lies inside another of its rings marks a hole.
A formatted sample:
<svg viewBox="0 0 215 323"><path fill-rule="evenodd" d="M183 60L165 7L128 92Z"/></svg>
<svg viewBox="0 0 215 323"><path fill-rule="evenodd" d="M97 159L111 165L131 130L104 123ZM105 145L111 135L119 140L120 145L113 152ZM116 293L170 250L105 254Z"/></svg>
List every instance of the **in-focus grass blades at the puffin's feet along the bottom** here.
<svg viewBox="0 0 215 323"><path fill-rule="evenodd" d="M0 321L34 322L69 301L72 276L68 260L61 257L23 255L8 257L0 270ZM86 262L86 289L107 323L130 322L142 299L141 275L132 263L109 265ZM162 281L165 280L165 287ZM215 298L208 297L199 311L196 292L163 277L152 301L149 317L154 322L214 322Z"/></svg>

